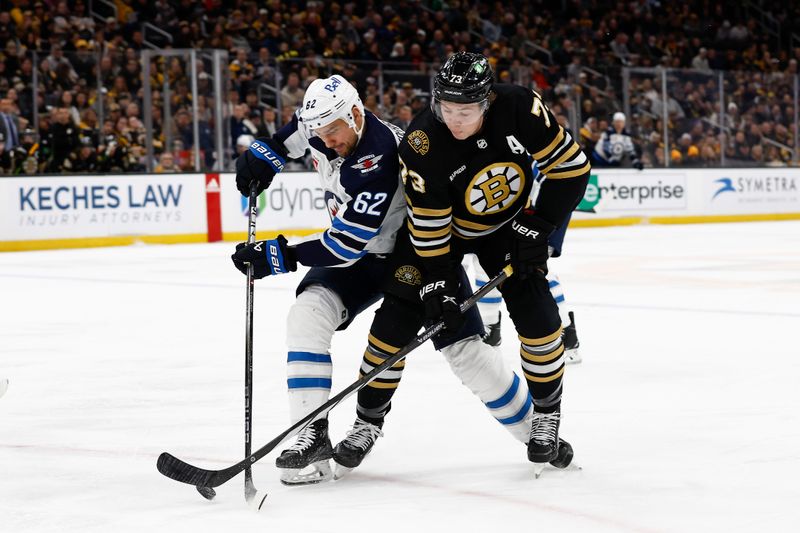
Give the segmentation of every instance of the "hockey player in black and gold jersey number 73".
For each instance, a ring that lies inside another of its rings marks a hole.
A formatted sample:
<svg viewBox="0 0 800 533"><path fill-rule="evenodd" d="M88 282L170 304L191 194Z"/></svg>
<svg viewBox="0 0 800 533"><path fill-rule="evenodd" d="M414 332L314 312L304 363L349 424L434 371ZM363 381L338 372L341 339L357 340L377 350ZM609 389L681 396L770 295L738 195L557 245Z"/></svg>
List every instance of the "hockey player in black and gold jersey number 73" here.
<svg viewBox="0 0 800 533"><path fill-rule="evenodd" d="M412 121L399 146L408 233L398 235L391 258L394 277L375 314L364 364L396 353L426 318L444 322L441 337L460 330L464 317L457 301L464 281L458 272L465 253L476 254L490 277L510 262L514 275L501 293L519 334L535 411L521 440L537 475L546 463L564 467L572 451L566 442L560 446L558 437L564 347L558 307L545 279L547 238L583 196L589 162L538 94L495 85L481 55L460 52L450 57L436 76L433 96L431 109ZM526 202L534 160L550 179L531 206ZM492 385L484 360L466 345L453 346L462 349L443 350L445 358L457 375L471 377L467 385L487 407L504 407L507 397L517 394L514 381L507 394L489 401ZM478 392L476 383L485 389ZM378 396L380 392L384 395ZM359 417L382 424L392 392L374 387L359 391ZM364 410L367 405L376 407ZM498 420L505 424L520 418ZM334 449L334 460L357 466L373 442L345 440Z"/></svg>

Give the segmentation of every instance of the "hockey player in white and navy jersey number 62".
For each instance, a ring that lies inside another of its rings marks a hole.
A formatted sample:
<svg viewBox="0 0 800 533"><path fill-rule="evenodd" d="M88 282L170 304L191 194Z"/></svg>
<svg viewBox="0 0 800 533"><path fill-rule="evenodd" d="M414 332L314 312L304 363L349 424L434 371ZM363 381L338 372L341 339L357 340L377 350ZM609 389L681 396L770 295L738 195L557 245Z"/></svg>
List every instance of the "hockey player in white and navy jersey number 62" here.
<svg viewBox="0 0 800 533"><path fill-rule="evenodd" d="M292 272L298 263L312 267L298 286L287 316L292 422L328 400L334 332L345 329L380 299L385 278L395 274L386 267L406 217L397 156L402 136L402 130L364 110L350 83L331 76L313 81L292 121L272 137L256 139L237 160L237 187L249 194L252 181L259 183L260 190L267 188L287 159L302 157L310 149L331 215L331 227L322 233L293 245L282 235L252 245L240 243L232 256L242 272L253 264L257 279ZM468 283L464 290L469 293ZM470 316L468 322L475 331L465 327L442 351L456 375L504 427L527 442L530 396L525 387L518 386L519 377L499 354L481 342L478 334L483 325L477 310ZM459 358L454 362L456 354ZM404 362L398 365L376 381L396 387ZM382 408L385 414L389 405ZM375 414L375 409L359 406L359 412ZM345 440L356 445L369 441L371 447L382 435L380 425L359 418ZM329 479L332 453L328 420L316 420L277 458L281 481L295 485Z"/></svg>

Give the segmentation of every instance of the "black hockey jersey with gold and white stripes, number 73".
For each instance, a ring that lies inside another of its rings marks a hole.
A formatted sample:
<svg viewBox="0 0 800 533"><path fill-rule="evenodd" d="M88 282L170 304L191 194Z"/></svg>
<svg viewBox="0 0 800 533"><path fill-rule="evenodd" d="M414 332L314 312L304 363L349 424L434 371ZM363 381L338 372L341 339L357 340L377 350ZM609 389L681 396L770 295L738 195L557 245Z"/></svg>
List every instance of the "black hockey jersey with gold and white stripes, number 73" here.
<svg viewBox="0 0 800 533"><path fill-rule="evenodd" d="M428 109L400 143L408 228L417 254L446 258L451 235L489 235L526 206L532 165L547 179L537 214L558 226L580 201L590 164L541 97L516 85L497 84L495 99L476 134L458 140Z"/></svg>

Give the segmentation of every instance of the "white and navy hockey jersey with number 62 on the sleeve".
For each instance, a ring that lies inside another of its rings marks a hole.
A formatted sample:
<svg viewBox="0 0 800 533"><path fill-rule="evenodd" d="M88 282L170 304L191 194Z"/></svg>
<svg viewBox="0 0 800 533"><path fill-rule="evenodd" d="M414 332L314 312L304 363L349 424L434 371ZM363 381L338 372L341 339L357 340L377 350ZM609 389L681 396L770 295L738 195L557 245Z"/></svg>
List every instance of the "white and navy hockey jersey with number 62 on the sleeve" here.
<svg viewBox="0 0 800 533"><path fill-rule="evenodd" d="M275 133L292 159L311 150L331 216L330 228L297 243L297 259L303 265L347 266L367 253L394 249L406 216L397 157L403 130L369 111L364 118L361 140L344 158L320 138L307 137L297 114Z"/></svg>

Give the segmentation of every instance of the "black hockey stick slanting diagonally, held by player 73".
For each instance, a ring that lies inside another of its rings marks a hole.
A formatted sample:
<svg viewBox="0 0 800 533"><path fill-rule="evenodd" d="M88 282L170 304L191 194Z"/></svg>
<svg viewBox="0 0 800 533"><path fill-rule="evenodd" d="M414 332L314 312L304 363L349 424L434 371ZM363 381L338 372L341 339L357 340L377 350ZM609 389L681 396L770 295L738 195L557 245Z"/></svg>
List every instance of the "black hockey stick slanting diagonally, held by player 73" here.
<svg viewBox="0 0 800 533"><path fill-rule="evenodd" d="M513 273L511 266L505 267L498 275L492 278L486 285L475 291L472 296L467 298L461 303L461 312L466 312L469 308L474 306L478 300L486 296L486 293L500 285L506 278ZM444 322L439 321L436 324L426 328L422 333L417 335L411 342L403 347L402 350L386 359L383 363L376 366L368 374L364 375L358 381L351 383L347 388L342 390L339 394L322 404L314 411L306 415L303 419L295 422L289 429L269 441L267 444L259 448L252 455L249 455L242 461L235 465L223 468L222 470L206 470L186 463L174 455L167 452L162 453L158 457L158 471L167 476L168 478L180 481L181 483L188 483L200 488L218 487L223 483L229 481L242 470L250 468L250 465L267 455L274 450L284 440L299 433L304 427L316 420L320 416L325 415L328 411L339 405L343 400L350 397L353 393L358 392L367 386L367 384L375 379L378 374L393 366L395 363L403 359L409 352L421 346L425 341L439 333L444 328ZM263 503L263 501L262 501ZM260 505L259 505L260 508Z"/></svg>

